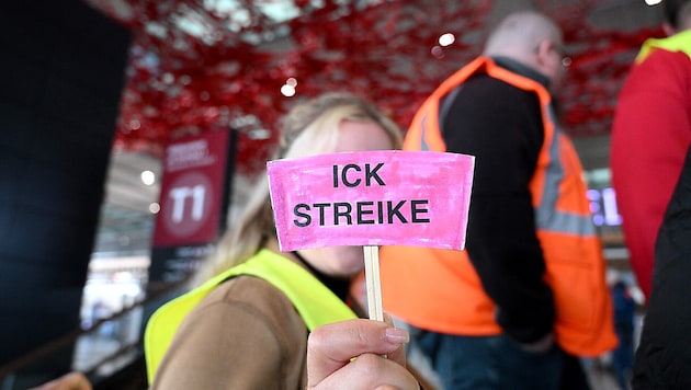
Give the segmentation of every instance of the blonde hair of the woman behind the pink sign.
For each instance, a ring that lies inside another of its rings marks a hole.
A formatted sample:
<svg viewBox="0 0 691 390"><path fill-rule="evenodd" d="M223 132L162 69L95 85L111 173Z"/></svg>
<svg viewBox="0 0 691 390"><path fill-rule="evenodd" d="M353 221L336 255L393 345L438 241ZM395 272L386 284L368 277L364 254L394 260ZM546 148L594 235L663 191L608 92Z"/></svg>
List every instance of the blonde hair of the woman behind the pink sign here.
<svg viewBox="0 0 691 390"><path fill-rule="evenodd" d="M281 139L273 159L298 158L336 150L343 121L377 124L394 149L403 147L403 133L366 100L351 93L327 93L293 107L281 122ZM214 254L193 279L197 285L254 255L276 230L271 209L269 180L257 183L239 221L219 240Z"/></svg>

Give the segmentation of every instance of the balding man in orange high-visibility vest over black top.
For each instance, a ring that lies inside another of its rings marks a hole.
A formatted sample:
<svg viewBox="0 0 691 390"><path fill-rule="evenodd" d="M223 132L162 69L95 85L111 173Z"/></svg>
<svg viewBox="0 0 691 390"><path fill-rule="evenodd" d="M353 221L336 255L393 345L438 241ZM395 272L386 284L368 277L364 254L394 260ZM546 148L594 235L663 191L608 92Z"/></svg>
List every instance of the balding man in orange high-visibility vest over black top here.
<svg viewBox="0 0 691 390"><path fill-rule="evenodd" d="M616 345L582 169L555 119L559 27L509 14L423 103L404 149L476 157L466 251L382 249L384 310L443 388L586 389L576 356Z"/></svg>

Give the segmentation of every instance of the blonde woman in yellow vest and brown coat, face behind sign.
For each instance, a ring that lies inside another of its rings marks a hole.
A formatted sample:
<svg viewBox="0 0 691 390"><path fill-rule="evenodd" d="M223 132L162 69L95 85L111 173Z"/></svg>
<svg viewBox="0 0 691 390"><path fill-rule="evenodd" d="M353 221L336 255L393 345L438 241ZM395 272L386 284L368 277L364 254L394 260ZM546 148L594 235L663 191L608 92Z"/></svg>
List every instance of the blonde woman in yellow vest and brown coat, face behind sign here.
<svg viewBox="0 0 691 390"><path fill-rule="evenodd" d="M282 123L275 158L400 149L399 128L352 94L325 94ZM151 389L305 389L309 332L356 318L346 303L361 246L279 251L268 180L200 271L207 280L155 313L145 335Z"/></svg>

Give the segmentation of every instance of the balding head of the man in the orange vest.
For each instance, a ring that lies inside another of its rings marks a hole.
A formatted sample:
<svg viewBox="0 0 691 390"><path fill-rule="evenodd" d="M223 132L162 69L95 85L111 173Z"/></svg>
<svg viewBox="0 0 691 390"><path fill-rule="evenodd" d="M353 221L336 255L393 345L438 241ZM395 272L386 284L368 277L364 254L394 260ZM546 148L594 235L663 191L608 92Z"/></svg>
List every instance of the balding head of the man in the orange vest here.
<svg viewBox="0 0 691 390"><path fill-rule="evenodd" d="M489 34L483 54L508 57L533 68L550 79L552 88L557 88L563 77L562 31L540 12L509 14Z"/></svg>

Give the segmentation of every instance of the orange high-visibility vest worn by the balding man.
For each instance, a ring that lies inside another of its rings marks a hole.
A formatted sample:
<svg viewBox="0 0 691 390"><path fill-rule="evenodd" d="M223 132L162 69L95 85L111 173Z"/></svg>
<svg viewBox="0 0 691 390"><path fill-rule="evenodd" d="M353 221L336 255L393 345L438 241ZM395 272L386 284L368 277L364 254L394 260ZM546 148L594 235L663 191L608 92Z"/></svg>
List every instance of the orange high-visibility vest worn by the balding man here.
<svg viewBox="0 0 691 390"><path fill-rule="evenodd" d="M551 117L547 90L479 57L446 79L422 104L404 149L446 150L439 125L440 102L478 72L534 92L540 99L544 144L530 190L546 265L544 278L554 294L554 332L558 345L570 354L601 355L616 345L605 263L580 161ZM483 290L466 251L385 246L381 250L381 278L384 310L412 325L460 335L501 333L495 303Z"/></svg>

